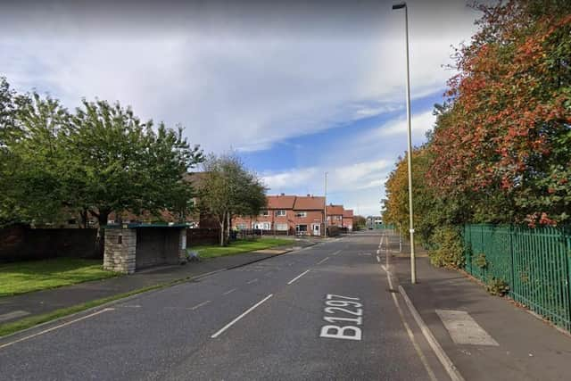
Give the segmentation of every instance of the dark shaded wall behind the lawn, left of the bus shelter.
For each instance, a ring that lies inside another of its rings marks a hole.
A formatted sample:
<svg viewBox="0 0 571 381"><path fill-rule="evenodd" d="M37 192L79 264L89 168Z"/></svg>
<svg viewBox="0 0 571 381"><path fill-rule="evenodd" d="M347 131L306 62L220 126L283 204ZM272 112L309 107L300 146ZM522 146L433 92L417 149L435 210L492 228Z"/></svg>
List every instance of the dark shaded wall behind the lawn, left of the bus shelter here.
<svg viewBox="0 0 571 381"><path fill-rule="evenodd" d="M56 257L99 259L95 228L27 228L0 229L0 262L33 261Z"/></svg>

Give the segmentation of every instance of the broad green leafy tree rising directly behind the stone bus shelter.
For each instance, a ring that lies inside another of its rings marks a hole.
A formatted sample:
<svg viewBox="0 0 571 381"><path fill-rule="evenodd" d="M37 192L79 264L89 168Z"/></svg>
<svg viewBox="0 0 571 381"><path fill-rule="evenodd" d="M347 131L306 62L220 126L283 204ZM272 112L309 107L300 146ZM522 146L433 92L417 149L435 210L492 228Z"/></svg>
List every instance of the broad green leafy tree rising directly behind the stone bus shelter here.
<svg viewBox="0 0 571 381"><path fill-rule="evenodd" d="M107 223L112 211L162 210L184 214L193 189L187 170L203 160L177 131L153 121L142 122L130 107L105 101L83 102L71 118L69 144L73 168L65 184L73 204Z"/></svg>

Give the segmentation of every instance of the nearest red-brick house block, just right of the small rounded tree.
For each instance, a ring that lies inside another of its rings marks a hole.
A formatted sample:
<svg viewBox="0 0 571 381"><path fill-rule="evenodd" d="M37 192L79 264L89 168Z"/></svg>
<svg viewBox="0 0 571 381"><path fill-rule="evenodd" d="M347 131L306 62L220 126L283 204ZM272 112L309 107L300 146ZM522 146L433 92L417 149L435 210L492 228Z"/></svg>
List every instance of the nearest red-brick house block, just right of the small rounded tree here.
<svg viewBox="0 0 571 381"><path fill-rule="evenodd" d="M322 236L325 197L306 195L269 195L268 208L258 216L240 216L232 228L259 229L268 234Z"/></svg>

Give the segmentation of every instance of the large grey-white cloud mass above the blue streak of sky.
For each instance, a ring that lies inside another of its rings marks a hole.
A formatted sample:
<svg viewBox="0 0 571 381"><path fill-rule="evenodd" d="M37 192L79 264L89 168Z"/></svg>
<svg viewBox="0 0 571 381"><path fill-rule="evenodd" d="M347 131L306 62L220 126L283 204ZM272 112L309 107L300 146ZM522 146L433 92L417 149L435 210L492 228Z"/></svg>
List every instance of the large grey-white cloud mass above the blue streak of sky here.
<svg viewBox="0 0 571 381"><path fill-rule="evenodd" d="M443 88L449 45L474 29L474 12L444 3L410 2L413 98ZM95 96L132 104L216 152L402 108L403 20L383 2L86 4L8 7L0 72L70 108Z"/></svg>

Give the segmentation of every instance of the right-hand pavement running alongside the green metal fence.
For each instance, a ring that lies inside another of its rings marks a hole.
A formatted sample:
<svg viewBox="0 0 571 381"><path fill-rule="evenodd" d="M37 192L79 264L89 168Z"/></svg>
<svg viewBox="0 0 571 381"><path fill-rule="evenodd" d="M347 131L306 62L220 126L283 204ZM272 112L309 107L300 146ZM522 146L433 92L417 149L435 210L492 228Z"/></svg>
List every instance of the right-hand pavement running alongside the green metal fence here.
<svg viewBox="0 0 571 381"><path fill-rule="evenodd" d="M398 238L394 241L391 249L398 252ZM571 379L569 335L509 299L487 294L459 271L434 268L428 258L417 260L416 285L410 283L409 259L393 256L391 262L400 285L465 379Z"/></svg>

